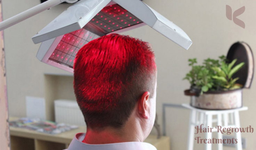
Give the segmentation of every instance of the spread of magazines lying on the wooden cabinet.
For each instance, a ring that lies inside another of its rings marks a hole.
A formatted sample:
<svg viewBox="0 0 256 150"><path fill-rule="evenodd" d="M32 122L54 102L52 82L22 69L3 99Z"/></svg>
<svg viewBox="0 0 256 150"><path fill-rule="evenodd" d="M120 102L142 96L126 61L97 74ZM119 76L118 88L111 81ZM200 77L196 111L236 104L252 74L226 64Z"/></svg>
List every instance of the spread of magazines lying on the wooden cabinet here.
<svg viewBox="0 0 256 150"><path fill-rule="evenodd" d="M58 134L65 131L77 129L77 125L69 125L65 123L56 123L37 118L20 118L9 122L11 127L20 127L23 129L35 130L47 134Z"/></svg>

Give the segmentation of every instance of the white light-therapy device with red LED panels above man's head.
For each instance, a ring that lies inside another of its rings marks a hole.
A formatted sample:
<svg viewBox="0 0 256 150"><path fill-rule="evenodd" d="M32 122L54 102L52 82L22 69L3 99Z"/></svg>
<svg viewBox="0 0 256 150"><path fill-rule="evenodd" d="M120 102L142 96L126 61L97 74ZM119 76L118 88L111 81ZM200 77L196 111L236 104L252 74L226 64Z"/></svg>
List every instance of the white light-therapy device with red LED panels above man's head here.
<svg viewBox="0 0 256 150"><path fill-rule="evenodd" d="M149 25L186 50L192 44L189 36L181 28L140 0L81 0L51 21L33 36L32 40L34 43L42 42L37 54L40 61L73 72L75 54L71 55L70 51L64 52L66 51L64 49L59 50L57 46L62 46L60 43L64 43L63 48L73 47L73 52L100 36L121 33L144 25ZM90 36L89 39L78 32L88 33L93 37ZM82 41L81 45L72 45L70 40L65 39L66 36L70 36L69 38L76 37ZM65 58L64 55L69 55L69 58ZM57 56L68 59L68 62Z"/></svg>

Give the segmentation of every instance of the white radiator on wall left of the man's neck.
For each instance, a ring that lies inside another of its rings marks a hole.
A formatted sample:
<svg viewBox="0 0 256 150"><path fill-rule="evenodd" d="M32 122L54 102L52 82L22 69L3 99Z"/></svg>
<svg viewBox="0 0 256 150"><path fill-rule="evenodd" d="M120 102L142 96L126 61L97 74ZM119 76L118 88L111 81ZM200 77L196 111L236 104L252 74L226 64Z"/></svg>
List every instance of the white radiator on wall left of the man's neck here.
<svg viewBox="0 0 256 150"><path fill-rule="evenodd" d="M55 122L85 126L82 112L75 100L54 100Z"/></svg>

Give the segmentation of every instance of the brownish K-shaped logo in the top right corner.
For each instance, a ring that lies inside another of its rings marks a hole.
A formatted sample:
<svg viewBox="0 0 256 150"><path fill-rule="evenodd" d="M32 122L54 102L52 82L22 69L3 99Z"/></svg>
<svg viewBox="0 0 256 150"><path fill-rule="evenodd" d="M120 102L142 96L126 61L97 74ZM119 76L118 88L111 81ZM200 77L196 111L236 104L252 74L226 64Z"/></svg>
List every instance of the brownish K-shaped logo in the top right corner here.
<svg viewBox="0 0 256 150"><path fill-rule="evenodd" d="M245 28L245 23L237 18L237 16L243 14L243 12L245 12L245 6L235 10L233 13L233 21L236 25ZM226 5L226 17L227 19L232 20L232 8L229 5Z"/></svg>

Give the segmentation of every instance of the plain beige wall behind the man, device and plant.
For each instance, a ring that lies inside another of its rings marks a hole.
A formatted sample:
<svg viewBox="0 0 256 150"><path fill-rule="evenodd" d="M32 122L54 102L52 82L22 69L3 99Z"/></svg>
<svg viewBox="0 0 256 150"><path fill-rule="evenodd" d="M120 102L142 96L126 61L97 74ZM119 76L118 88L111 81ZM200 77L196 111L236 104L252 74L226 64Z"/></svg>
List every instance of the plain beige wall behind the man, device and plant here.
<svg viewBox="0 0 256 150"><path fill-rule="evenodd" d="M185 51L149 27L125 33L150 42L154 48L158 65L157 113L160 124L162 103L189 102L189 97L183 95L183 90L189 88L189 83L182 81L189 70L187 59L197 57L201 62L207 57L217 58L226 54L230 45L236 41L247 42L256 54L256 1L254 0L144 0L144 2L181 27L193 41L190 50ZM39 0L3 0L3 17L9 18L38 3ZM245 6L245 12L238 17L245 22L245 29L226 18L226 5L230 5L233 11ZM43 73L66 73L38 61L35 55L40 45L34 45L31 40L36 32L66 7L67 5L59 5L5 30L11 116L25 116L26 95L44 97ZM240 113L242 127L251 125L256 129L255 90L256 80L250 90L243 91L243 104L249 106L249 110ZM167 134L171 137L171 149L185 149L189 112L170 108L167 110L167 116ZM256 147L255 133L244 133L242 136L247 138L248 150ZM202 144L197 144L196 147L201 149Z"/></svg>

